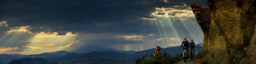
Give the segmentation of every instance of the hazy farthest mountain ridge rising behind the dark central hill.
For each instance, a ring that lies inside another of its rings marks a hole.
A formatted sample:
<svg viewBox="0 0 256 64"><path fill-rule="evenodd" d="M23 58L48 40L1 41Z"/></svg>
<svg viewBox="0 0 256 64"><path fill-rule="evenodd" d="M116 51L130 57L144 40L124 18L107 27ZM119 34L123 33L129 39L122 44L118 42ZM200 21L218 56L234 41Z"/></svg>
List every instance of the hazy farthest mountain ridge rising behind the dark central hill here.
<svg viewBox="0 0 256 64"><path fill-rule="evenodd" d="M127 53L127 54L133 54L136 51L119 51L113 48L108 48L108 47L100 47L100 46L87 46L87 47L83 47L83 48L77 48L75 50L72 50L70 52L73 53L89 53L92 51L115 51L115 52L119 52L119 53Z"/></svg>

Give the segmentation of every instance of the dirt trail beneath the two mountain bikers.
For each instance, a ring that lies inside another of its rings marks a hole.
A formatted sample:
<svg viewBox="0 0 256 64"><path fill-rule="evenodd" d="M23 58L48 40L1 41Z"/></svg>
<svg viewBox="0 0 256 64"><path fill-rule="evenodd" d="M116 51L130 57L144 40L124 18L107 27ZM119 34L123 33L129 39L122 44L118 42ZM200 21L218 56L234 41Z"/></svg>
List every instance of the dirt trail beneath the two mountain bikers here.
<svg viewBox="0 0 256 64"><path fill-rule="evenodd" d="M180 62L178 62L177 64L202 64L203 59L199 59L199 57L195 57L195 59L187 59L186 63L184 63L184 60L181 60Z"/></svg>

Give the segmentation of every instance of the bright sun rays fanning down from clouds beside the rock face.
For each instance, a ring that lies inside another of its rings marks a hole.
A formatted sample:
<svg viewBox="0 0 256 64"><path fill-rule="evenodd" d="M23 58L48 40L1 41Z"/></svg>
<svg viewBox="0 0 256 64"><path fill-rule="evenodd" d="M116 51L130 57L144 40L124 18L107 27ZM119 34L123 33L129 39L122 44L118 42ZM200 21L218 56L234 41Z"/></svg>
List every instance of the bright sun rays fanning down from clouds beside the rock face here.
<svg viewBox="0 0 256 64"><path fill-rule="evenodd" d="M176 9L175 7L187 7L187 9ZM160 38L168 38L168 37L176 37L177 39L170 38L170 40L167 39L161 39L159 41L162 42L161 46L167 47L169 44L172 44L172 46L175 44L174 42L180 42L183 37L197 37L201 34L201 32L198 32L197 30L193 30L191 28L196 28L198 26L194 26L196 21L193 17L194 14L191 11L191 8L184 4L183 6L174 6L174 8L155 8L156 11L151 13L151 16L153 16L157 22L155 22L155 25L158 29ZM170 14L170 15L169 15ZM190 20L191 18L192 20ZM177 22L179 21L179 22ZM168 24L169 23L169 24ZM177 25L179 24L179 26ZM193 25L190 25L193 24ZM166 28L169 28L166 30ZM180 28L183 27L183 28ZM186 31L186 32L178 32L178 31ZM168 31L168 32L167 32ZM186 33L186 34L182 34ZM171 35L169 35L171 34ZM200 38L194 38L194 40L199 40ZM174 42L172 42L174 41ZM167 45L168 44L168 45ZM177 44L175 44L177 45Z"/></svg>

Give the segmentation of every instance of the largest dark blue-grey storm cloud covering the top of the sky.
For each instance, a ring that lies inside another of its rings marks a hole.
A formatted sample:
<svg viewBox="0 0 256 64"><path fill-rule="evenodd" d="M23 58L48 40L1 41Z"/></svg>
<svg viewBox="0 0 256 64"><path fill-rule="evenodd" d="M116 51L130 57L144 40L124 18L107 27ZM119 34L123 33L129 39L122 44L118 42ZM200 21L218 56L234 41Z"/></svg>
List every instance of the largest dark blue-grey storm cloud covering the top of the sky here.
<svg viewBox="0 0 256 64"><path fill-rule="evenodd" d="M0 18L8 21L10 27L26 25L35 27L35 31L32 32L87 30L101 33L105 32L106 26L99 26L97 23L123 22L126 26L111 25L122 28L133 27L132 24L125 24L125 21L149 17L155 7L191 3L205 5L207 2L204 0L168 0L167 3L163 0L8 0L1 3ZM40 27L48 27L48 29L36 30ZM106 32L138 32L136 29L129 31L115 29L107 29Z"/></svg>

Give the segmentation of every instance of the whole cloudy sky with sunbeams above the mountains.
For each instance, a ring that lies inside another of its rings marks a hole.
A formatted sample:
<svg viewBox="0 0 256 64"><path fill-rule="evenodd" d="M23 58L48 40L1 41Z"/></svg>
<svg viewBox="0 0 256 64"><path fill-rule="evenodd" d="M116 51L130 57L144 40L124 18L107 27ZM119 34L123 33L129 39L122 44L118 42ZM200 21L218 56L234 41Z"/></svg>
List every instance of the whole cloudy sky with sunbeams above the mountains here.
<svg viewBox="0 0 256 64"><path fill-rule="evenodd" d="M143 51L203 42L190 4L207 0L1 0L0 54L102 46Z"/></svg>

